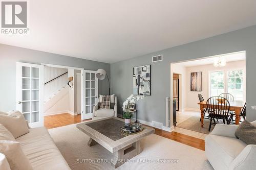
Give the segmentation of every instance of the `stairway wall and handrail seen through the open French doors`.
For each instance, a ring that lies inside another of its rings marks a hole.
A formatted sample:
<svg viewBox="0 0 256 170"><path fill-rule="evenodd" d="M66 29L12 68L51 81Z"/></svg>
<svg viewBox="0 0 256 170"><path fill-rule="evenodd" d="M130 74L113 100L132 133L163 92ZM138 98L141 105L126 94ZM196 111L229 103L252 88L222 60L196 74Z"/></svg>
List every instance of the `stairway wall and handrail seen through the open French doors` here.
<svg viewBox="0 0 256 170"><path fill-rule="evenodd" d="M44 116L79 114L77 107L81 107L81 101L77 103L77 98L81 98L81 93L78 93L77 87L81 85L81 74L78 78L78 73L81 69L44 65Z"/></svg>

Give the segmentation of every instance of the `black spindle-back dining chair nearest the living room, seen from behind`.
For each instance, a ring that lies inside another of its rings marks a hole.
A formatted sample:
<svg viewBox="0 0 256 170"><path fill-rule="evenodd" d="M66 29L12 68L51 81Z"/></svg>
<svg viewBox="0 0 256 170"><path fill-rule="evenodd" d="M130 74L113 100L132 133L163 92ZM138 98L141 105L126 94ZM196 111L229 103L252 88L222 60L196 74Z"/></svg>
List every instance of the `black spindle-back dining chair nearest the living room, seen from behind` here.
<svg viewBox="0 0 256 170"><path fill-rule="evenodd" d="M214 125L216 125L216 119L222 119L223 124L225 124L225 120L229 125L228 116L229 116L229 107L230 104L227 99L221 96L213 96L206 101L207 111L210 117L210 125L208 131L210 131L212 120L214 120Z"/></svg>

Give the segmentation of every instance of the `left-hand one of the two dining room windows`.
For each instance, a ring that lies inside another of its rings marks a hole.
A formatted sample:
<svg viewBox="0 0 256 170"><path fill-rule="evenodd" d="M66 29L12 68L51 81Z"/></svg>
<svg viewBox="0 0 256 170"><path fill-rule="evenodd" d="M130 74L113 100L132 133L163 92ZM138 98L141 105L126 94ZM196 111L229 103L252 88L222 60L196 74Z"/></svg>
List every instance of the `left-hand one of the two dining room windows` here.
<svg viewBox="0 0 256 170"><path fill-rule="evenodd" d="M224 92L224 71L210 72L210 95L217 96Z"/></svg>

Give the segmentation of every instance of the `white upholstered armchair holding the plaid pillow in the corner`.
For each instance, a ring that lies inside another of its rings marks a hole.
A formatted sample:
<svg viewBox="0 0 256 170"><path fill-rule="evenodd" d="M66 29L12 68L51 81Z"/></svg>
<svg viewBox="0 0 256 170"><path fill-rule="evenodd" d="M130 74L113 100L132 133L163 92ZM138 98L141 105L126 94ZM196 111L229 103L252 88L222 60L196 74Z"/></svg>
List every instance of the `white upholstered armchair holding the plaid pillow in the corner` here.
<svg viewBox="0 0 256 170"><path fill-rule="evenodd" d="M93 120L117 116L117 97L114 96L114 101L110 101L110 109L100 109L101 96L98 99L98 104L93 107Z"/></svg>

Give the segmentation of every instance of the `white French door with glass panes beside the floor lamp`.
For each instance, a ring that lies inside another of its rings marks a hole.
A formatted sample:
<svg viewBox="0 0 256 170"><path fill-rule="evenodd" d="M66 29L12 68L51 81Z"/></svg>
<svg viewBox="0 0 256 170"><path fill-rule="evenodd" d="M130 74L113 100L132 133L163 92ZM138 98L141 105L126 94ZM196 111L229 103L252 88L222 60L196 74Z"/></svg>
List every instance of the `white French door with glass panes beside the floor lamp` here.
<svg viewBox="0 0 256 170"><path fill-rule="evenodd" d="M83 70L83 111L81 119L90 119L93 117L93 107L98 103L98 79L96 72L92 70Z"/></svg>

